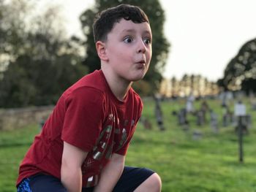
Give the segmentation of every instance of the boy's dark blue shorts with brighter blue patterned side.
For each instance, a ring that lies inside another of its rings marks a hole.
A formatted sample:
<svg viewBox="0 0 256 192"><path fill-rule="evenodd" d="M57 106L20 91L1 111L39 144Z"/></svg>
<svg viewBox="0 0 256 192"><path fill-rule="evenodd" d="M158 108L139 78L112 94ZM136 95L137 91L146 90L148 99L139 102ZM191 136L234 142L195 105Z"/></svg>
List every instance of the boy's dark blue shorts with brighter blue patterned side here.
<svg viewBox="0 0 256 192"><path fill-rule="evenodd" d="M130 192L135 191L138 186L143 183L148 177L154 174L153 171L146 168L135 168L125 166L124 172L121 174L118 183L116 183L114 192ZM94 188L83 188L82 192L93 191ZM18 185L18 192L67 192L64 186L56 177L46 174L36 174L24 179Z"/></svg>

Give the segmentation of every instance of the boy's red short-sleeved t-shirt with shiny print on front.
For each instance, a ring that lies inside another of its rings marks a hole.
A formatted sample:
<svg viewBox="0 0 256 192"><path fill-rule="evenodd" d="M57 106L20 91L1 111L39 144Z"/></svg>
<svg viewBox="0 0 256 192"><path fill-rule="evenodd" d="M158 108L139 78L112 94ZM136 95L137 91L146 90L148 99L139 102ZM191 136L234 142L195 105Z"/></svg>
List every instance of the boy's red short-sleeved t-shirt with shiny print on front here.
<svg viewBox="0 0 256 192"><path fill-rule="evenodd" d="M61 178L63 141L89 152L83 187L97 185L113 153L125 155L143 108L132 88L124 101L110 91L101 70L81 78L60 97L20 165L17 184L39 172Z"/></svg>

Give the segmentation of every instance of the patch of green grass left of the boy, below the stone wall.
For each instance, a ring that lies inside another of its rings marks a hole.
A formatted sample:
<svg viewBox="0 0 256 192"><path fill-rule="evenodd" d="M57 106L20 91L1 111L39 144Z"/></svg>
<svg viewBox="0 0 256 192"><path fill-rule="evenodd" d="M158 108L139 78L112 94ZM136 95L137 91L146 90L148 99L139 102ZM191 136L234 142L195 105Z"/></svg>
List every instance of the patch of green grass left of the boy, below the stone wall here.
<svg viewBox="0 0 256 192"><path fill-rule="evenodd" d="M20 161L28 150L38 126L28 126L15 131L0 131L0 191L15 191Z"/></svg>

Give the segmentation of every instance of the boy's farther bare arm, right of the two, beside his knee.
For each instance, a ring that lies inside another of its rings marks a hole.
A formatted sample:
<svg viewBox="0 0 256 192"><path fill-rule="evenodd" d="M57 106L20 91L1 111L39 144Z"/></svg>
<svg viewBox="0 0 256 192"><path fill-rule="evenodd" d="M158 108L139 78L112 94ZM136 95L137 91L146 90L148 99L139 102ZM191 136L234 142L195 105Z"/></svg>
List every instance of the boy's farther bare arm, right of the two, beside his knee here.
<svg viewBox="0 0 256 192"><path fill-rule="evenodd" d="M124 155L113 153L110 162L105 166L100 174L100 180L98 185L94 188L94 192L113 191L113 188L124 170L124 160Z"/></svg>

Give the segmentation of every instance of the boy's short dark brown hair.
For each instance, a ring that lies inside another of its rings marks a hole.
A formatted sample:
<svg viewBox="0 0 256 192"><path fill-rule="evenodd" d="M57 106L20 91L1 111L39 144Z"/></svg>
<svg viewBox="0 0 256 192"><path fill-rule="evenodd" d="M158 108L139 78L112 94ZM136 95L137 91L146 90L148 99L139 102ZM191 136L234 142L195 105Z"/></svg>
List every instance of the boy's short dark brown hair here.
<svg viewBox="0 0 256 192"><path fill-rule="evenodd" d="M149 23L146 13L140 7L130 4L120 4L116 7L110 7L99 12L94 18L94 42L104 42L107 40L108 33L122 18L132 20L133 23Z"/></svg>

